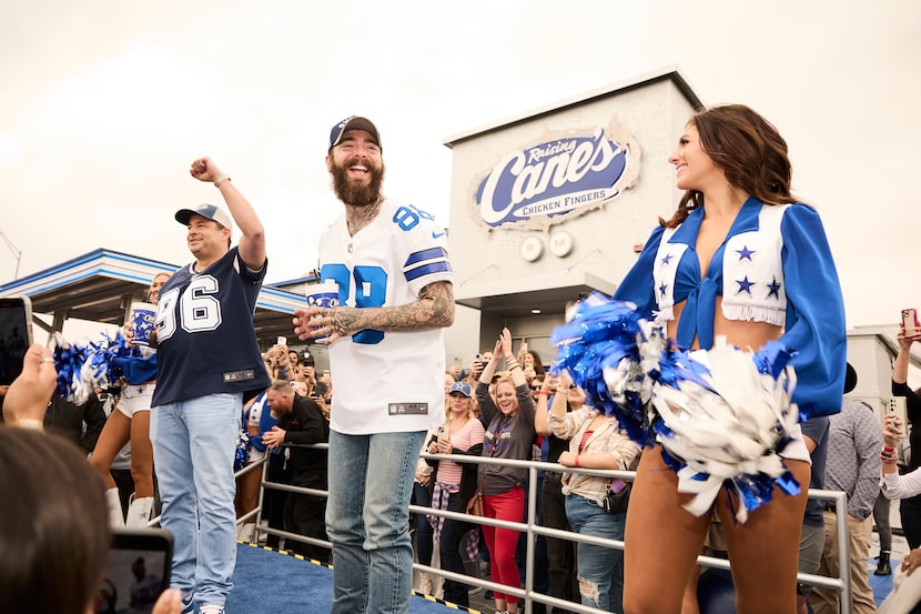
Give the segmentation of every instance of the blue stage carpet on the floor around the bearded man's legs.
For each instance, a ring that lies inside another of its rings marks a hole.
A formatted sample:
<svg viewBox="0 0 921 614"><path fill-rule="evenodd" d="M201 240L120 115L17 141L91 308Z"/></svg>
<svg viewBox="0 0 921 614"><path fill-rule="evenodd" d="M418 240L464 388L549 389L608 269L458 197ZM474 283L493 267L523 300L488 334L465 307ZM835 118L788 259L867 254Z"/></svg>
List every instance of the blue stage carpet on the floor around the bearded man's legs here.
<svg viewBox="0 0 921 614"><path fill-rule="evenodd" d="M330 567L272 548L236 545L236 570L233 591L227 597L227 614L328 614L332 601L333 572ZM457 607L432 597L414 595L409 603L409 614L456 612ZM475 610L470 612L478 614Z"/></svg>

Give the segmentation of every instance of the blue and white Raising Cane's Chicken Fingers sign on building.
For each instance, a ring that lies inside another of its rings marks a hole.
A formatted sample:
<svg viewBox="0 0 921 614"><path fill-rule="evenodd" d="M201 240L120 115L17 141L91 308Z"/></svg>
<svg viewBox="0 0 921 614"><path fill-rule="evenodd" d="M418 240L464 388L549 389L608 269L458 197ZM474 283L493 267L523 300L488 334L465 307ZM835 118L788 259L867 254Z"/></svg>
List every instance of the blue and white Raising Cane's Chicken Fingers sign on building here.
<svg viewBox="0 0 921 614"><path fill-rule="evenodd" d="M623 130L570 131L504 154L474 201L489 228L547 227L604 205L636 182L638 169L639 148Z"/></svg>

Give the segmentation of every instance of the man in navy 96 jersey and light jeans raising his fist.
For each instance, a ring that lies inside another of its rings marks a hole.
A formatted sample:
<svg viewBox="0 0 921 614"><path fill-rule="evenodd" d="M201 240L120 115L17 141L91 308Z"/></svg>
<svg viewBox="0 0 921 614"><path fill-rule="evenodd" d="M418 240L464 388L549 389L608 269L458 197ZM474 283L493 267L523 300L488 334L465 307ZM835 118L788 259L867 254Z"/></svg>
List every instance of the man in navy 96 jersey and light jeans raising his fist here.
<svg viewBox="0 0 921 614"><path fill-rule="evenodd" d="M194 261L160 290L156 390L150 439L163 514L172 532L172 586L183 612L223 614L236 563L233 457L243 402L271 384L253 329L265 278L265 235L253 208L209 158L192 177L213 182L213 204L181 209ZM236 223L242 236L231 248Z"/></svg>

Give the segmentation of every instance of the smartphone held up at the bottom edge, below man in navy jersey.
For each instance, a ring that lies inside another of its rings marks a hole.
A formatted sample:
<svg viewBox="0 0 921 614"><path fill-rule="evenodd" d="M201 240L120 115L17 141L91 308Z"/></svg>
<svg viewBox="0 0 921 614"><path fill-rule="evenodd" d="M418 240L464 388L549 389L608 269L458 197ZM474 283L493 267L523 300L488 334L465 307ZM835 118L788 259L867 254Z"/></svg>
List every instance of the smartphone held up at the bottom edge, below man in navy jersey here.
<svg viewBox="0 0 921 614"><path fill-rule="evenodd" d="M173 535L163 529L113 529L97 614L150 612L170 587Z"/></svg>

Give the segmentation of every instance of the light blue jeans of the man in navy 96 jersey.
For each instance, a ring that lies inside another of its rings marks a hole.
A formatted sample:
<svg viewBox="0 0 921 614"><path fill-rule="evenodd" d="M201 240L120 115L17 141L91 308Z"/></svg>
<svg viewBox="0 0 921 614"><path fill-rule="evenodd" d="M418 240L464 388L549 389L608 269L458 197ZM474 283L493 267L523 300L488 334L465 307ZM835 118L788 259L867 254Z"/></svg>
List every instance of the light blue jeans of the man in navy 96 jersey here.
<svg viewBox="0 0 921 614"><path fill-rule="evenodd" d="M171 586L199 604L223 604L233 587L236 513L233 456L243 395L210 394L152 407L150 440L173 534Z"/></svg>

